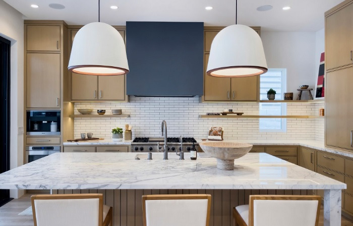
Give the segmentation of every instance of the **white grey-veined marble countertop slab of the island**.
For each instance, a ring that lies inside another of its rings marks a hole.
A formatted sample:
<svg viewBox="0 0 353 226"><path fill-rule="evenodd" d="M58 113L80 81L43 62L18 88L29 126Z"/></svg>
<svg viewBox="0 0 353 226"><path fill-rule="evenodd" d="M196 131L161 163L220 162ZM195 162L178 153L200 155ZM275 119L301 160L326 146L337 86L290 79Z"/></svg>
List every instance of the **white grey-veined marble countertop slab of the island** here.
<svg viewBox="0 0 353 226"><path fill-rule="evenodd" d="M346 185L266 153L218 170L216 159L153 160L136 153L55 153L0 174L0 189L345 189ZM135 160L140 155L140 160Z"/></svg>

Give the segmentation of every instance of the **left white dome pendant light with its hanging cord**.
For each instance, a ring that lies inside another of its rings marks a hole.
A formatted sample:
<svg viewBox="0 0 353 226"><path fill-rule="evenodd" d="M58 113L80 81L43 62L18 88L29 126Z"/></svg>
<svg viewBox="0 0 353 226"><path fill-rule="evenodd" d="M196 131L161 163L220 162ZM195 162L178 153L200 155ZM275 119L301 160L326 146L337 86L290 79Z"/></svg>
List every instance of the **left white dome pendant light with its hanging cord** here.
<svg viewBox="0 0 353 226"><path fill-rule="evenodd" d="M129 65L122 36L105 23L83 26L75 36L68 68L86 75L127 74Z"/></svg>

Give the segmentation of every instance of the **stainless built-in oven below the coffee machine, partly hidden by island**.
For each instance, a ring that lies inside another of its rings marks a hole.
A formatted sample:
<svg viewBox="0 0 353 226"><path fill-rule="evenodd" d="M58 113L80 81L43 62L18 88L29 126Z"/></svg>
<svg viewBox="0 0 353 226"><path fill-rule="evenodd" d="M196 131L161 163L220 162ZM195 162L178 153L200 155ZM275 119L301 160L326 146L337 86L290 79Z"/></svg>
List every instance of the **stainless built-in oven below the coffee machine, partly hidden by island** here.
<svg viewBox="0 0 353 226"><path fill-rule="evenodd" d="M26 163L33 162L56 152L60 152L60 149L60 145L26 146Z"/></svg>

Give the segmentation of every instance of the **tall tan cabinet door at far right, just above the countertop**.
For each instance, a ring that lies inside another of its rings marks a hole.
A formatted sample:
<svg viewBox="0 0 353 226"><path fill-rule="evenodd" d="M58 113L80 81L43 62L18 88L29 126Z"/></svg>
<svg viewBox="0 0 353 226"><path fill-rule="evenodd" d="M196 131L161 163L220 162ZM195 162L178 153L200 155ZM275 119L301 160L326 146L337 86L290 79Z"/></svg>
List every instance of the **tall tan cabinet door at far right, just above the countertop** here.
<svg viewBox="0 0 353 226"><path fill-rule="evenodd" d="M328 72L326 84L326 145L353 149L353 67Z"/></svg>

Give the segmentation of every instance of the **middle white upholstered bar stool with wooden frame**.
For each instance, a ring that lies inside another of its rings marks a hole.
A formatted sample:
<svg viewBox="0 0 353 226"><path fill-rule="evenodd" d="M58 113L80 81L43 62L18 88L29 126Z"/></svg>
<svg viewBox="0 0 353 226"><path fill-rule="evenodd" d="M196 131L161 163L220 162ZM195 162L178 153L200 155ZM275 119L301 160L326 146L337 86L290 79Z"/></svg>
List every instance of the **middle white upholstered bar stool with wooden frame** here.
<svg viewBox="0 0 353 226"><path fill-rule="evenodd" d="M209 194L143 195L144 226L208 226Z"/></svg>

